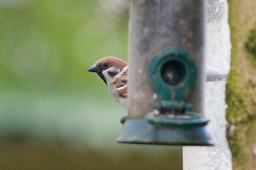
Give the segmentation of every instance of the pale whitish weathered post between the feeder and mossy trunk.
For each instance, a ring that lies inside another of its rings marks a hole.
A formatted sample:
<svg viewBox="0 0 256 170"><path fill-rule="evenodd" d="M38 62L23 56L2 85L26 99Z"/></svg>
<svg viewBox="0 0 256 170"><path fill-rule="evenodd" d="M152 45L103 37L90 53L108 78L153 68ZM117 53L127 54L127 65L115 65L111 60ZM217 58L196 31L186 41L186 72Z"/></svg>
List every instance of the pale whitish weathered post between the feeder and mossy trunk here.
<svg viewBox="0 0 256 170"><path fill-rule="evenodd" d="M209 0L206 25L206 64L219 70L230 69L231 42L226 0ZM220 71L221 72L221 71ZM232 169L231 152L226 140L225 81L206 83L205 114L215 141L213 147L184 146L184 170Z"/></svg>

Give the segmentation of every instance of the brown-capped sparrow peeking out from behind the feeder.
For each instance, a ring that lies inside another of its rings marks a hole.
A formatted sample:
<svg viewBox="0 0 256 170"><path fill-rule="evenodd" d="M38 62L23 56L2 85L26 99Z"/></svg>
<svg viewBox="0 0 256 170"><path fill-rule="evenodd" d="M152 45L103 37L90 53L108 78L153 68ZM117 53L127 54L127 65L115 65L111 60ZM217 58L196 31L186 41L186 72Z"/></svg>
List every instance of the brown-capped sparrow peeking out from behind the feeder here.
<svg viewBox="0 0 256 170"><path fill-rule="evenodd" d="M127 109L129 65L117 57L104 57L96 61L88 71L97 75L107 85L114 99Z"/></svg>

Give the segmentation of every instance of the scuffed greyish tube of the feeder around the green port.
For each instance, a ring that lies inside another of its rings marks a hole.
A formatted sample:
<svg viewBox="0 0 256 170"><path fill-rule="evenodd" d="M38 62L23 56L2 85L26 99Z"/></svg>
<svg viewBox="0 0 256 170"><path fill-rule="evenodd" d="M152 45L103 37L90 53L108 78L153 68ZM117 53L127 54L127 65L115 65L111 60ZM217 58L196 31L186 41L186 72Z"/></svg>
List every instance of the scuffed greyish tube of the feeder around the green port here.
<svg viewBox="0 0 256 170"><path fill-rule="evenodd" d="M131 0L129 25L128 118L143 118L157 100L147 76L148 63L166 47L187 51L198 67L188 103L204 113L204 0Z"/></svg>

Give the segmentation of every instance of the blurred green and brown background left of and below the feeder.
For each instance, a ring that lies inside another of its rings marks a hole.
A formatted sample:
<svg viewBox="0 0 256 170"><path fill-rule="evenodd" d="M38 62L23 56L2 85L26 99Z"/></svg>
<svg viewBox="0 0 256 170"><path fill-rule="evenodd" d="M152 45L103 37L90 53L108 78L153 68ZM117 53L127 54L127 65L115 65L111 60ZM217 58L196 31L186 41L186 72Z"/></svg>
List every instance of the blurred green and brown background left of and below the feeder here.
<svg viewBox="0 0 256 170"><path fill-rule="evenodd" d="M182 147L115 143L96 60L127 61L127 0L0 0L0 169L182 169Z"/></svg>

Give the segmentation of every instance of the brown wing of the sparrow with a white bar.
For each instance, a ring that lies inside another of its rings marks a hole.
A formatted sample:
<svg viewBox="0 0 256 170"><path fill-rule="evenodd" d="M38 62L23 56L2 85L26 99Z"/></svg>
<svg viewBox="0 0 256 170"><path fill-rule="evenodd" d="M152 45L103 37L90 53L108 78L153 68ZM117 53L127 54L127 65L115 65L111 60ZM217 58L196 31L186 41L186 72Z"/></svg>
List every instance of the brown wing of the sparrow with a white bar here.
<svg viewBox="0 0 256 170"><path fill-rule="evenodd" d="M127 97L128 90L128 71L124 72L119 79L115 82L115 87L117 88L117 93L121 97Z"/></svg>

